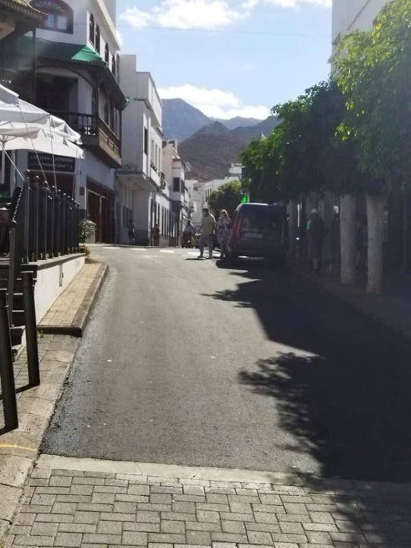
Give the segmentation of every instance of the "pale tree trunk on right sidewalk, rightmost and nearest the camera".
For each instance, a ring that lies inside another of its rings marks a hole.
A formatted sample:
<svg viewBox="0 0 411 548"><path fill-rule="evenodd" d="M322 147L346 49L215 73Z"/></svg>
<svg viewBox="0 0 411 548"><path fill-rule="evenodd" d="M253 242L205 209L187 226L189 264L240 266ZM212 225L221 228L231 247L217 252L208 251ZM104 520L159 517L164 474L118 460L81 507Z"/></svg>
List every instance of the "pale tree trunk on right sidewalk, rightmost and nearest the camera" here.
<svg viewBox="0 0 411 548"><path fill-rule="evenodd" d="M382 237L384 225L384 203L381 196L366 195L368 221L368 284L366 292L380 295L382 292Z"/></svg>

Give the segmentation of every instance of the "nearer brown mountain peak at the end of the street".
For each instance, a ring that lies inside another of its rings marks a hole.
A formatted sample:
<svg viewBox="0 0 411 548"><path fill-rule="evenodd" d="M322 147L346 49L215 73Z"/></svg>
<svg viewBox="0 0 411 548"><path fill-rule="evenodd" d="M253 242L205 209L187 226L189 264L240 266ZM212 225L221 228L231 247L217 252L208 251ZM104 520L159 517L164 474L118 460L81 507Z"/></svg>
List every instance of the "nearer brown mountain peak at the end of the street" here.
<svg viewBox="0 0 411 548"><path fill-rule="evenodd" d="M250 140L230 132L221 122L214 122L184 140L179 145L179 155L190 162L190 179L223 179Z"/></svg>

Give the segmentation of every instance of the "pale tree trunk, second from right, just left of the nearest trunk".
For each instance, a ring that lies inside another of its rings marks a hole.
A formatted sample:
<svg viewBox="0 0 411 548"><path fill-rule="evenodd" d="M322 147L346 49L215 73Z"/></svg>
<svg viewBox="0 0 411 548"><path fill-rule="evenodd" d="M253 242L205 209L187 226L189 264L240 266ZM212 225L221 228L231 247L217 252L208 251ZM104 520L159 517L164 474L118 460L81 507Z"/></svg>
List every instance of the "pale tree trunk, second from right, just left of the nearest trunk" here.
<svg viewBox="0 0 411 548"><path fill-rule="evenodd" d="M340 197L341 283L356 283L356 198Z"/></svg>

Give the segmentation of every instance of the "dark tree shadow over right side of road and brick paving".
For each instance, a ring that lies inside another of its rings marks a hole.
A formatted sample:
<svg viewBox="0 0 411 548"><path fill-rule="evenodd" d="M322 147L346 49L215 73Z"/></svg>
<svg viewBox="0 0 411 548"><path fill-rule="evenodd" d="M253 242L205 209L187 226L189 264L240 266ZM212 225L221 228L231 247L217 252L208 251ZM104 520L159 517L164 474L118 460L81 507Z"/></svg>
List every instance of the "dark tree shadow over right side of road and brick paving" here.
<svg viewBox="0 0 411 548"><path fill-rule="evenodd" d="M329 480L306 478L318 510L345 521L343 542L410 547L410 486L371 482L411 482L411 352L297 273L219 266L240 281L208 297L253 308L269 339L292 349L241 371L239 382L273 398L297 451L321 465Z"/></svg>

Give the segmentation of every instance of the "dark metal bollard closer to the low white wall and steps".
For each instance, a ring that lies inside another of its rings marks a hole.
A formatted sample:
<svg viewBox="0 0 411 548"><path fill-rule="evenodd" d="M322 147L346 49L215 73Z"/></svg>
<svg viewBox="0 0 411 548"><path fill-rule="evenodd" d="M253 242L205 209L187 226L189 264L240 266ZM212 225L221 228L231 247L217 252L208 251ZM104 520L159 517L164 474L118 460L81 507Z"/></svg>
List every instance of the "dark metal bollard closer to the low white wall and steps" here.
<svg viewBox="0 0 411 548"><path fill-rule="evenodd" d="M40 384L40 368L38 364L36 306L34 304L33 273L22 272L24 321L27 339L27 366L29 369L29 385Z"/></svg>

